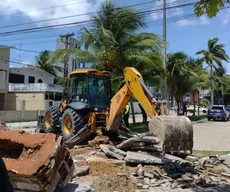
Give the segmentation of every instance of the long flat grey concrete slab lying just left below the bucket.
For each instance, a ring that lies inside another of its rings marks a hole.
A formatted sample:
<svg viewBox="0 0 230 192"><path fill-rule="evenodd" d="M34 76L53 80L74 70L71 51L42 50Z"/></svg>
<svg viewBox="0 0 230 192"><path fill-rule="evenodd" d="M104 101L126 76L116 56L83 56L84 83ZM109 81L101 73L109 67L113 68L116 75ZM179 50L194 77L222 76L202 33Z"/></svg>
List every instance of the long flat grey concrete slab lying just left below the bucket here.
<svg viewBox="0 0 230 192"><path fill-rule="evenodd" d="M128 151L125 161L130 163L143 163L143 164L169 164L172 161L163 155L149 155L146 153Z"/></svg>

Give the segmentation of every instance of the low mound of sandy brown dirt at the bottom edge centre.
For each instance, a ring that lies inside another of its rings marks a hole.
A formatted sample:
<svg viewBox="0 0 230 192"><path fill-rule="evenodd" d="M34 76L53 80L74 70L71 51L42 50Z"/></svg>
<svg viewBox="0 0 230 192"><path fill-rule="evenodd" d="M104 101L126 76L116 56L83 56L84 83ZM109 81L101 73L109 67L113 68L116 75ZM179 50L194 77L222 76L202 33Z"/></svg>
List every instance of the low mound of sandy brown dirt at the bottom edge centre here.
<svg viewBox="0 0 230 192"><path fill-rule="evenodd" d="M96 179L93 183L93 188L100 192L131 192L135 191L135 184L128 176L114 173Z"/></svg>

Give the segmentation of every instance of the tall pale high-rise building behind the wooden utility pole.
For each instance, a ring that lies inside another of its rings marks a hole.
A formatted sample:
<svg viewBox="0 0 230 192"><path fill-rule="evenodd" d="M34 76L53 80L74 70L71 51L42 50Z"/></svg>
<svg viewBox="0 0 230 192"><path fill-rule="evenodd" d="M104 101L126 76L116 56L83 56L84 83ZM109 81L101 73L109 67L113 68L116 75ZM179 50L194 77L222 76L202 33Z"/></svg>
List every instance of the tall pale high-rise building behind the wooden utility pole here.
<svg viewBox="0 0 230 192"><path fill-rule="evenodd" d="M73 37L69 37L69 45L68 48L72 49L80 49L80 41L76 40ZM61 37L58 37L56 39L56 49L65 49L65 42L62 41ZM63 77L64 73L64 64L63 63L57 63L57 66L61 67L61 72L58 73L59 76ZM68 61L68 74L76 70L77 68L80 68L80 64L75 59L71 59Z"/></svg>

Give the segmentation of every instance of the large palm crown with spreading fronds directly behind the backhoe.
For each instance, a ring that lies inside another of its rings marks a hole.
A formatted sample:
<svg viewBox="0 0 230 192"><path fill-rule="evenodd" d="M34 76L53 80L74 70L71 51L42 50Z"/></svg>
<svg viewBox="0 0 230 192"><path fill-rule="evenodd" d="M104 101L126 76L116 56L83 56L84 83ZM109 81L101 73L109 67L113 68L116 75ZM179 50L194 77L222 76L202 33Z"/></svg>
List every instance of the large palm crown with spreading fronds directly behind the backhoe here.
<svg viewBox="0 0 230 192"><path fill-rule="evenodd" d="M144 16L130 7L116 7L107 0L91 18L91 27L83 28L80 35L85 50L61 49L52 54L53 61L77 58L91 62L94 68L123 74L125 66L139 70L144 65L157 68L161 60L161 39L152 33L139 33L145 27ZM157 58L157 59L156 59Z"/></svg>

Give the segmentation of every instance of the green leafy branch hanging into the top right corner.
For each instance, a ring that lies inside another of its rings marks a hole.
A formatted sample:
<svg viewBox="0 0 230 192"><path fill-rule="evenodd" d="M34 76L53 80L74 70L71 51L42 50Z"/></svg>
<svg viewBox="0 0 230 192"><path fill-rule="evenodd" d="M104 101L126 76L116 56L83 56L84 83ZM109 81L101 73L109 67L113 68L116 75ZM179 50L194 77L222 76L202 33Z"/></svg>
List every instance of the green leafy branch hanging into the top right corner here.
<svg viewBox="0 0 230 192"><path fill-rule="evenodd" d="M199 0L195 4L195 14L198 17L207 15L209 18L212 18L228 3L230 3L230 0Z"/></svg>

